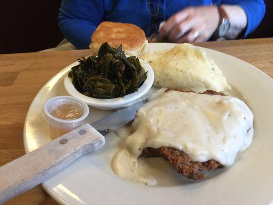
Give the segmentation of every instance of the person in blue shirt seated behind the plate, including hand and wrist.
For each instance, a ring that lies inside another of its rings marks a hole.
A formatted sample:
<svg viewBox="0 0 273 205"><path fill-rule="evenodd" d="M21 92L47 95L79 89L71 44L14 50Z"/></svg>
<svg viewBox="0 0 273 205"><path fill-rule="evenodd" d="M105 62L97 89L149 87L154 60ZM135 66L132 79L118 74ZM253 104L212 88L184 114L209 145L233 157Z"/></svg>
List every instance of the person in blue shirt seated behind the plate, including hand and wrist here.
<svg viewBox="0 0 273 205"><path fill-rule="evenodd" d="M62 0L59 27L77 49L87 49L103 21L131 23L146 37L158 32L168 42L204 42L221 24L221 6L229 19L226 39L254 31L265 13L263 0Z"/></svg>

